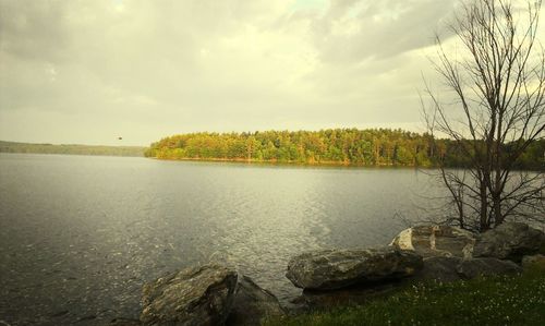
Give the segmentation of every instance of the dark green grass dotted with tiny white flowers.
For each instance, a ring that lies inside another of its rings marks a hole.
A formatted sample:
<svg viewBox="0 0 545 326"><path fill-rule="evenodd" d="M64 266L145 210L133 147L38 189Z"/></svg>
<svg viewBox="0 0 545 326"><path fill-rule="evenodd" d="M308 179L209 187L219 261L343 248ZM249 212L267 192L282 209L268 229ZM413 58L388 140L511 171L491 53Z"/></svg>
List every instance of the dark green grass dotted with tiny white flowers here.
<svg viewBox="0 0 545 326"><path fill-rule="evenodd" d="M265 325L545 325L545 266L533 267L522 275L417 283L365 305Z"/></svg>

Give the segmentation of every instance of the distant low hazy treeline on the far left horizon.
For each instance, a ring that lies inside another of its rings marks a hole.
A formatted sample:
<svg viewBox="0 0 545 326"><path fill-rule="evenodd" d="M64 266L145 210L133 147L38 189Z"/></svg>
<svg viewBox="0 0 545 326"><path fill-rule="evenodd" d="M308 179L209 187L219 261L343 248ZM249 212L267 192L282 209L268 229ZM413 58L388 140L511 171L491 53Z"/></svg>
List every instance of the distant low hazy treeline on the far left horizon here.
<svg viewBox="0 0 545 326"><path fill-rule="evenodd" d="M141 146L52 145L0 141L0 153L75 154L102 156L144 156Z"/></svg>

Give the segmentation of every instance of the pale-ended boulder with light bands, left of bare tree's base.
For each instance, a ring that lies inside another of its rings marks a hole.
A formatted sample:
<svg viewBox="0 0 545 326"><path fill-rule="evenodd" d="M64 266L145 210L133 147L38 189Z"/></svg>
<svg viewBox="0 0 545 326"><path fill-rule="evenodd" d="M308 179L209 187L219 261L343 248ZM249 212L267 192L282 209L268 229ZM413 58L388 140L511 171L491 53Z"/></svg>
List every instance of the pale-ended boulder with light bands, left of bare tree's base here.
<svg viewBox="0 0 545 326"><path fill-rule="evenodd" d="M470 258L475 234L449 226L416 226L401 231L390 245L415 251L423 257Z"/></svg>

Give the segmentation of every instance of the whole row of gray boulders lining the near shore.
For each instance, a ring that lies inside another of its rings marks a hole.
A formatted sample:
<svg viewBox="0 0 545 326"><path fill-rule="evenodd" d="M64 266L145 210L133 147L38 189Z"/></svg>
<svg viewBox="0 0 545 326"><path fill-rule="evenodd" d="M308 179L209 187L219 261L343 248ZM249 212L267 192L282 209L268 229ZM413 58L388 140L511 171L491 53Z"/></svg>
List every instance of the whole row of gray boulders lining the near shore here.
<svg viewBox="0 0 545 326"><path fill-rule="evenodd" d="M545 261L544 246L542 231L506 222L482 234L419 226L383 247L301 253L287 267L286 277L303 289L290 311L235 267L210 263L145 285L140 319L117 318L109 325L259 325L267 317L365 302L408 282L520 273Z"/></svg>

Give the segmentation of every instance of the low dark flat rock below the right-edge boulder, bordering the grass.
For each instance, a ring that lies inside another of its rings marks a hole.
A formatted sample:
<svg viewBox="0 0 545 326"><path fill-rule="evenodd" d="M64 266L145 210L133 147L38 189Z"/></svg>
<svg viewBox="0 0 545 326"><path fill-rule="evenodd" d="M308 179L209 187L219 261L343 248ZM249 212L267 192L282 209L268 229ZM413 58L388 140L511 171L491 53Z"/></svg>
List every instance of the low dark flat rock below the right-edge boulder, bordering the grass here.
<svg viewBox="0 0 545 326"><path fill-rule="evenodd" d="M488 257L462 261L457 266L457 271L460 277L471 279L481 275L520 273L522 268L511 261Z"/></svg>

